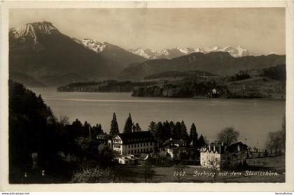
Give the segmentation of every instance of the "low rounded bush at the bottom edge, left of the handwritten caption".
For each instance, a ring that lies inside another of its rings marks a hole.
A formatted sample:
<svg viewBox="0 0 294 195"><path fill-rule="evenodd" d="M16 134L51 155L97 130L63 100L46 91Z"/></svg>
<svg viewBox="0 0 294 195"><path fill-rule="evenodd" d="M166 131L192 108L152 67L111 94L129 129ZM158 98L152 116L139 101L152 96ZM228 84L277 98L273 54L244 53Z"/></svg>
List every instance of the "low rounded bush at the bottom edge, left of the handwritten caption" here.
<svg viewBox="0 0 294 195"><path fill-rule="evenodd" d="M118 182L118 176L111 168L87 168L75 173L71 179L72 183L114 183Z"/></svg>

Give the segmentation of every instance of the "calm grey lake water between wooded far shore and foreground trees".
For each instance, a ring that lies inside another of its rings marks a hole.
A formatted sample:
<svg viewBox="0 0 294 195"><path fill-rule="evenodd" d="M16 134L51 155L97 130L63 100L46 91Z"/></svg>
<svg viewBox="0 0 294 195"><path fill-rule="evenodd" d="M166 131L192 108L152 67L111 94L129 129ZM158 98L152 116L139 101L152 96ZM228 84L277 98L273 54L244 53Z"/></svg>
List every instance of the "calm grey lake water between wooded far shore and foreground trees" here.
<svg viewBox="0 0 294 195"><path fill-rule="evenodd" d="M235 127L239 140L247 145L263 147L269 131L281 129L285 101L244 99L165 99L132 97L130 93L56 92L55 88L31 88L41 94L57 117L67 115L72 122L91 125L101 123L109 132L113 113L123 131L129 113L141 129L148 124L184 120L188 131L194 122L198 133L213 141L224 127Z"/></svg>

